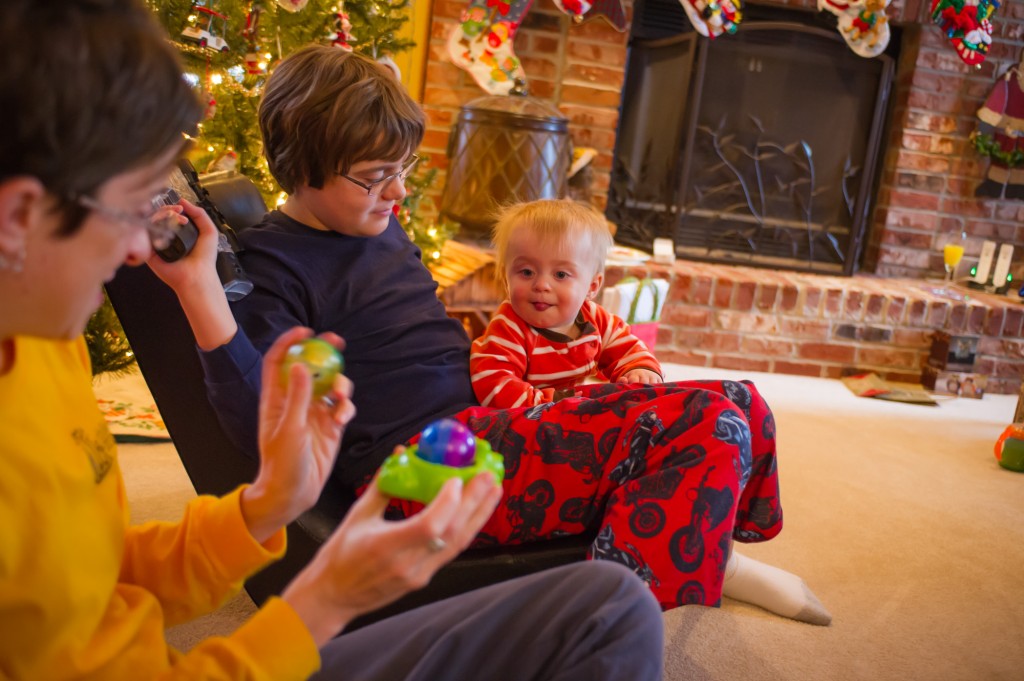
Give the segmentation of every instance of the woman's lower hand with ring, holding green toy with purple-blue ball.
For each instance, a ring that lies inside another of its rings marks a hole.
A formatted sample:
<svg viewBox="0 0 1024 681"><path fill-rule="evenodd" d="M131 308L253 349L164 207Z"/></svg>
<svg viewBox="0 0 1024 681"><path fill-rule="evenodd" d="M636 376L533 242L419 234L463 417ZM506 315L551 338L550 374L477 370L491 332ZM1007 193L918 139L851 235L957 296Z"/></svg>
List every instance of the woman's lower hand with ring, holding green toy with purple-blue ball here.
<svg viewBox="0 0 1024 681"><path fill-rule="evenodd" d="M420 513L385 520L389 500L375 477L282 597L323 645L359 614L426 586L469 546L501 496L492 473L477 475L465 490L453 478Z"/></svg>

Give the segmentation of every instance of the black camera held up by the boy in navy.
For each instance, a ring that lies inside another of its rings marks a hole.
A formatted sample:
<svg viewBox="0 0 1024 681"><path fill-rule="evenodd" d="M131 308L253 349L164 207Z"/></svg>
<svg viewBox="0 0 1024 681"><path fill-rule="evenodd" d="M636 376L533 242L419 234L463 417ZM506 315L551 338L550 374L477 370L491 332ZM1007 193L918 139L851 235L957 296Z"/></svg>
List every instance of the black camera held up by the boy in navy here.
<svg viewBox="0 0 1024 681"><path fill-rule="evenodd" d="M179 161L171 175L170 184L170 188L154 200L154 204L172 205L177 204L179 198L184 198L206 211L217 227L217 275L224 287L224 293L228 300L245 298L253 290L253 283L246 276L239 262L237 254L241 251L241 246L238 237L210 199L209 191L203 186L191 163L184 159ZM174 262L191 252L197 241L199 227L189 219L180 226L167 247L157 251L157 255L167 262Z"/></svg>

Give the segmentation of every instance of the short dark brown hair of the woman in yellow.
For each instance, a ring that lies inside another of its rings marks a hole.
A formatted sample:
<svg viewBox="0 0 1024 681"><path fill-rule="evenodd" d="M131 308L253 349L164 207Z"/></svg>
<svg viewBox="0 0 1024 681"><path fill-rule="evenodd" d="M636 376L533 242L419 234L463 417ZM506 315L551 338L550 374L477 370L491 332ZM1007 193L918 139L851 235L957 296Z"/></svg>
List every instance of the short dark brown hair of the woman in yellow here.
<svg viewBox="0 0 1024 681"><path fill-rule="evenodd" d="M87 213L71 197L183 148L202 116L167 35L137 0L4 0L0 62L0 181L39 179L65 235Z"/></svg>

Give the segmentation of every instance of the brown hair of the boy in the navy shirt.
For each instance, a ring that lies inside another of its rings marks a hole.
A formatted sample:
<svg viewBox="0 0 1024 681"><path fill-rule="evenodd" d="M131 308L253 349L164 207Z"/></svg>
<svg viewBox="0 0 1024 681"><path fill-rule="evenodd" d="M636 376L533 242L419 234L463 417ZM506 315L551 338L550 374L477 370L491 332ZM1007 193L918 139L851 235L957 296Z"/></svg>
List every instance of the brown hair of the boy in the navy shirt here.
<svg viewBox="0 0 1024 681"><path fill-rule="evenodd" d="M400 161L420 145L423 110L370 57L309 45L278 65L263 89L259 127L285 191L321 188L360 161Z"/></svg>

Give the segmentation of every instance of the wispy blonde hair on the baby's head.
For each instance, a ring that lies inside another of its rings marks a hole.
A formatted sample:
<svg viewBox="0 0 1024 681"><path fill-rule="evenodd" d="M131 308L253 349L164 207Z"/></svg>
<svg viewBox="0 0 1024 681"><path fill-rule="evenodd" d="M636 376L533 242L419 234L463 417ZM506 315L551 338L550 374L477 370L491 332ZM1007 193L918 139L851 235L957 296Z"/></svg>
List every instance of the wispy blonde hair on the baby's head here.
<svg viewBox="0 0 1024 681"><path fill-rule="evenodd" d="M614 244L608 220L596 208L571 199L541 199L500 209L492 229L497 273L504 281L508 248L516 229L528 228L544 243L578 249L594 274L604 272L608 249Z"/></svg>

